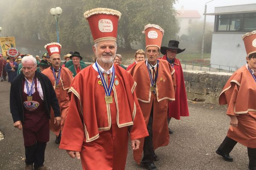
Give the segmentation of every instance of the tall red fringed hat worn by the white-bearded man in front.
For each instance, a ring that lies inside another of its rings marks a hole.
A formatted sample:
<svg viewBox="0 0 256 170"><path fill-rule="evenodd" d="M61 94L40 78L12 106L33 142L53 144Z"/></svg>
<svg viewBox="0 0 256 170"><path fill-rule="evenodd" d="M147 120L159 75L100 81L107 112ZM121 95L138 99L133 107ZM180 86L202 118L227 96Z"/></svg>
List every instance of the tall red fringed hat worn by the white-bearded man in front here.
<svg viewBox="0 0 256 170"><path fill-rule="evenodd" d="M86 11L84 17L89 22L95 44L106 40L116 41L118 20L121 17L119 11L109 8L94 8Z"/></svg>

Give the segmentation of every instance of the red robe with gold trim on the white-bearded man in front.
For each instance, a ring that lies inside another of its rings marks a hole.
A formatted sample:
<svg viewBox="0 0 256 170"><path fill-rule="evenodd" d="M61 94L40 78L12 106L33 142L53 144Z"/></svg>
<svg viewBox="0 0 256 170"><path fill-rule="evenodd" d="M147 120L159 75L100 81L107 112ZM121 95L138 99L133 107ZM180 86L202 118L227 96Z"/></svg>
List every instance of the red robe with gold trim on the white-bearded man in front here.
<svg viewBox="0 0 256 170"><path fill-rule="evenodd" d="M105 90L93 65L76 75L60 149L79 151L84 170L124 170L130 139L148 136L137 97L136 82L114 64L115 83L106 104ZM110 76L103 74L108 85ZM143 146L143 144L140 144Z"/></svg>

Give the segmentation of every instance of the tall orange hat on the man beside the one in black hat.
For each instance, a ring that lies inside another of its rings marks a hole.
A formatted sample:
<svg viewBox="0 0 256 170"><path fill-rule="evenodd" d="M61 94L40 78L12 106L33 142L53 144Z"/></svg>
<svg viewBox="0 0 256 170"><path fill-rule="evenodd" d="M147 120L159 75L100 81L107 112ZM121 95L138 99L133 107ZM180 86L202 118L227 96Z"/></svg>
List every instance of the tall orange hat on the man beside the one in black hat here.
<svg viewBox="0 0 256 170"><path fill-rule="evenodd" d="M146 48L157 46L160 49L164 33L163 28L155 24L148 24L142 33L145 34Z"/></svg>

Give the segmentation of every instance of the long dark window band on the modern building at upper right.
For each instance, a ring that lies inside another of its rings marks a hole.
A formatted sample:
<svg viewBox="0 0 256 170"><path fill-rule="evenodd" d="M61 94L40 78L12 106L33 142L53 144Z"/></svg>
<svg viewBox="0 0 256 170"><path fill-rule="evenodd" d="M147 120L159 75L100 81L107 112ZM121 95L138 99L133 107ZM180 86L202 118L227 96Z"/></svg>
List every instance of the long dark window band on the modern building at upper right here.
<svg viewBox="0 0 256 170"><path fill-rule="evenodd" d="M256 13L215 16L216 32L250 32L256 30Z"/></svg>

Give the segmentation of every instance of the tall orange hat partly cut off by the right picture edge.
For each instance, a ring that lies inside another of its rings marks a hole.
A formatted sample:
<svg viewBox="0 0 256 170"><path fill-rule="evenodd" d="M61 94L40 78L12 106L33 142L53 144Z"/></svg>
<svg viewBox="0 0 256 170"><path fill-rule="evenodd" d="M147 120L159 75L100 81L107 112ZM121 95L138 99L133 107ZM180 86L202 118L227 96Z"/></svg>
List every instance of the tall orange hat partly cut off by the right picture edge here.
<svg viewBox="0 0 256 170"><path fill-rule="evenodd" d="M247 56L256 53L256 31L248 32L242 37Z"/></svg>

